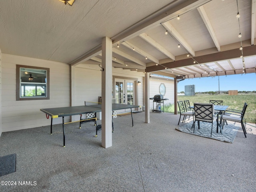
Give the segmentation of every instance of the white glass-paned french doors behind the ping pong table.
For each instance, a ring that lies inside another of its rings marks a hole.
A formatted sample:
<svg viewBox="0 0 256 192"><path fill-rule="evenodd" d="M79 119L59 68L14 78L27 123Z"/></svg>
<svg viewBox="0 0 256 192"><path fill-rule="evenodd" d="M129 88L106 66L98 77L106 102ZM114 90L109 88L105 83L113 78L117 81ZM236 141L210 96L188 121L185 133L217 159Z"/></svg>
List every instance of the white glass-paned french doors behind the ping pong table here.
<svg viewBox="0 0 256 192"><path fill-rule="evenodd" d="M134 105L135 81L126 79L115 79L115 99L116 103ZM134 109L133 109L134 110ZM130 111L130 109L124 109L120 112Z"/></svg>

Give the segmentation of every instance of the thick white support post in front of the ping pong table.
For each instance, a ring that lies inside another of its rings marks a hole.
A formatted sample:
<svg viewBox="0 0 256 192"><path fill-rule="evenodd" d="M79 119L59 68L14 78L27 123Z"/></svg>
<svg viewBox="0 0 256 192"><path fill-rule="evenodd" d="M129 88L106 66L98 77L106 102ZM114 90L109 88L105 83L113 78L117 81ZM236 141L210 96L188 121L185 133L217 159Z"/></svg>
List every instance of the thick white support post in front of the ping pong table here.
<svg viewBox="0 0 256 192"><path fill-rule="evenodd" d="M102 39L102 137L104 148L112 146L112 40ZM104 70L104 71L103 71Z"/></svg>

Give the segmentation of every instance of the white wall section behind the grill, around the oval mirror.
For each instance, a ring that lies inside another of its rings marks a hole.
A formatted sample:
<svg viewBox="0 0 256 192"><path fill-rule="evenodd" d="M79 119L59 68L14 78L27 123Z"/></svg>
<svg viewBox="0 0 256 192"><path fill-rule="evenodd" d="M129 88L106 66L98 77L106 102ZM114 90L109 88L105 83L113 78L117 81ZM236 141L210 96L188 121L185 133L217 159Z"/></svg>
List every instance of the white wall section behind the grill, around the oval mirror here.
<svg viewBox="0 0 256 192"><path fill-rule="evenodd" d="M166 87L166 93L164 98L169 100L164 101L164 105L167 103L174 103L174 81L173 80L164 80L164 79L150 79L149 85L149 96L154 97L154 95L159 95L159 86L161 83L164 83ZM150 110L153 109L153 100L150 100ZM156 103L154 103L154 108L156 108Z"/></svg>

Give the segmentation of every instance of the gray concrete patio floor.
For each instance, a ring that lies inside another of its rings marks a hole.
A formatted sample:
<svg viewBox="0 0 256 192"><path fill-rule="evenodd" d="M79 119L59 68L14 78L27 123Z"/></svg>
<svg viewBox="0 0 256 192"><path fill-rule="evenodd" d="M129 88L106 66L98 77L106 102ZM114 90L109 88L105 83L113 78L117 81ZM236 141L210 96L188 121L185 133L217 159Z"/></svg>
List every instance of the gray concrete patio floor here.
<svg viewBox="0 0 256 192"><path fill-rule="evenodd" d="M144 112L114 119L112 146L101 146L93 123L2 133L0 156L16 153L16 172L1 181L10 192L255 192L256 126L240 127L234 143L176 131L179 115ZM98 122L100 123L100 121ZM50 124L50 120L49 120ZM180 123L179 126L183 124ZM36 126L36 125L35 125ZM36 181L21 186L18 181Z"/></svg>

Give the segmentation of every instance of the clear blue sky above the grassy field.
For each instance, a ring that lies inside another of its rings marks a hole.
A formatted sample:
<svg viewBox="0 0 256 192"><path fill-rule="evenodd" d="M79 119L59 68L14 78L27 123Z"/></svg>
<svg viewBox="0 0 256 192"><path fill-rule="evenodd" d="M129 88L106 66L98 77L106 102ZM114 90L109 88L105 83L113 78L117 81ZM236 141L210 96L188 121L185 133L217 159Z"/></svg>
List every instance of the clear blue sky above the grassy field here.
<svg viewBox="0 0 256 192"><path fill-rule="evenodd" d="M196 92L218 91L218 76L185 79L178 83L178 93L185 91L185 85L195 85ZM256 73L220 76L220 91L256 91Z"/></svg>

